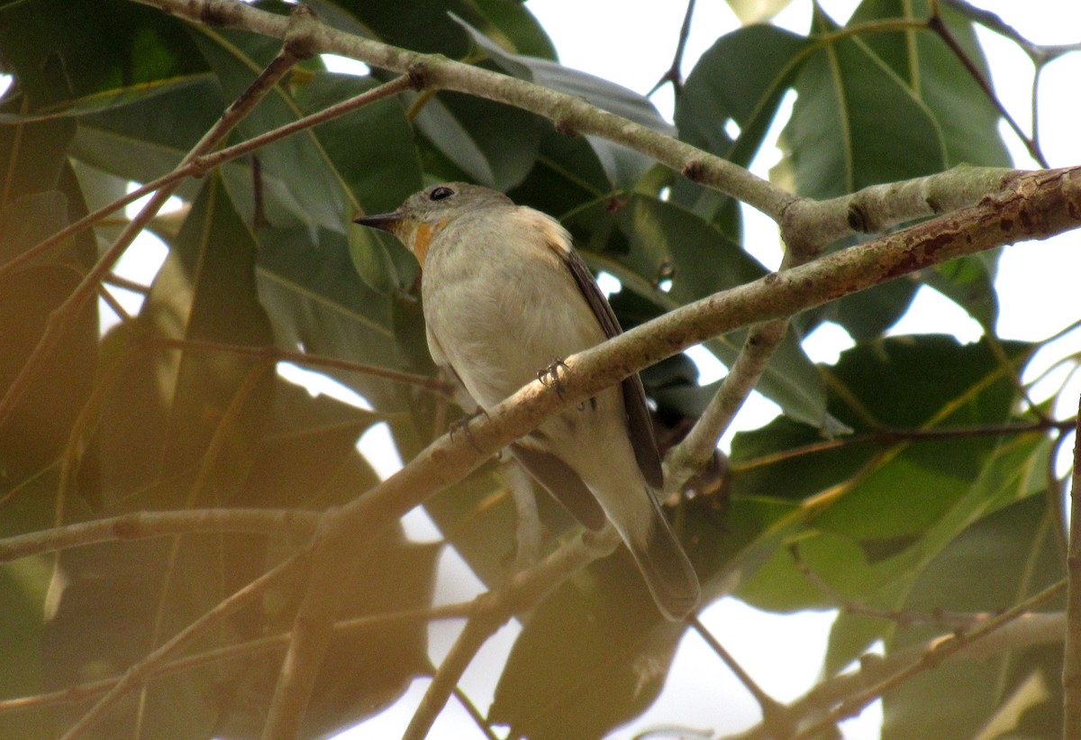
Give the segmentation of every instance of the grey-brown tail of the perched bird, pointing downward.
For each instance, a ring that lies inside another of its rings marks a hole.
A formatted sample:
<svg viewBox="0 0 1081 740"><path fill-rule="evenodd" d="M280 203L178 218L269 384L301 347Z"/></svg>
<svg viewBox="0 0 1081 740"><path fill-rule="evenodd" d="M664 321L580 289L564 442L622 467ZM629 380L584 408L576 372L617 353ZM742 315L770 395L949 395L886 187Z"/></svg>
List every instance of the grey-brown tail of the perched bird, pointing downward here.
<svg viewBox="0 0 1081 740"><path fill-rule="evenodd" d="M652 492L649 498L654 508L653 525L644 542L627 538L627 547L657 607L668 619L680 621L698 605L702 587Z"/></svg>

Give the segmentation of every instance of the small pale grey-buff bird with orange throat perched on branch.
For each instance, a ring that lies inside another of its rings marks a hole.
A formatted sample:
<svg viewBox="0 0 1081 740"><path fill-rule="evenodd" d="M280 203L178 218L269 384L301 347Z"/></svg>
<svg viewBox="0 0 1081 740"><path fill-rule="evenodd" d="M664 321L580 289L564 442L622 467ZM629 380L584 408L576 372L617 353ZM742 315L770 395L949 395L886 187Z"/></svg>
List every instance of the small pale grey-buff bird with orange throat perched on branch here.
<svg viewBox="0 0 1081 740"><path fill-rule="evenodd" d="M416 255L431 357L481 409L546 372L558 387L562 358L622 331L566 229L502 193L433 185L356 223L393 234ZM694 610L698 579L654 493L660 459L637 374L510 451L584 526L615 526L668 619Z"/></svg>

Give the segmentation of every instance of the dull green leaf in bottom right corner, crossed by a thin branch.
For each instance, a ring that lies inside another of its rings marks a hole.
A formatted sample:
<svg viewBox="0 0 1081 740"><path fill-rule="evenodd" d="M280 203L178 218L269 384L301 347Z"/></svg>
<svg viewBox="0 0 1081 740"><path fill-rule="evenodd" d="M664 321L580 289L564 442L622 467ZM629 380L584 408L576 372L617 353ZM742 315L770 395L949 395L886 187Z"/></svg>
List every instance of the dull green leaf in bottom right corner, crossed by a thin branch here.
<svg viewBox="0 0 1081 740"><path fill-rule="evenodd" d="M966 529L921 574L905 608L993 613L1065 578L1047 501L1024 499ZM933 624L900 627L888 650L943 632ZM990 660L948 661L886 695L882 737L977 737L1007 703L1020 715L1018 726L1003 728L1010 737L1054 737L1063 722L1062 670L1057 642Z"/></svg>

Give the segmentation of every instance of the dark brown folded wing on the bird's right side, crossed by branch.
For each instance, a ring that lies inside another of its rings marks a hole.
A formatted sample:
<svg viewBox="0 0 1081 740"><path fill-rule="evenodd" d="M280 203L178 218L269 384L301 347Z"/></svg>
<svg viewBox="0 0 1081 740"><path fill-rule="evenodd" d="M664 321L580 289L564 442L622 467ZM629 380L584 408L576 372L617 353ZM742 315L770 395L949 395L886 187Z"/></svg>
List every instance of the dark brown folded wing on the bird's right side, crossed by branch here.
<svg viewBox="0 0 1081 740"><path fill-rule="evenodd" d="M589 267L570 245L549 243L563 264L566 265L574 282L578 286L583 298L597 317L597 321L609 339L623 333L619 321L615 318L612 306L593 279ZM642 471L645 481L659 489L664 484L664 473L660 470L660 455L657 453L657 442L653 437L653 422L650 421L650 410L645 405L645 388L638 373L623 380L623 405L627 410L627 427L630 433L630 444L635 449L635 460Z"/></svg>

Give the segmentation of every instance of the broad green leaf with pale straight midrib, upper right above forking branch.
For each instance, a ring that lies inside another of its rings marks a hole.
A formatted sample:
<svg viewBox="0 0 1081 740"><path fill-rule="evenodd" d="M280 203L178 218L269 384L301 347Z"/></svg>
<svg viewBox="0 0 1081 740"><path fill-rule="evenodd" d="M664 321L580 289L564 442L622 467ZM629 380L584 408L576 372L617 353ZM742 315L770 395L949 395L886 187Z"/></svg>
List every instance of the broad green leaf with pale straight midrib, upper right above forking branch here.
<svg viewBox="0 0 1081 740"><path fill-rule="evenodd" d="M858 37L837 37L816 9L819 51L796 78L783 132L800 195L823 199L949 164L933 111Z"/></svg>

